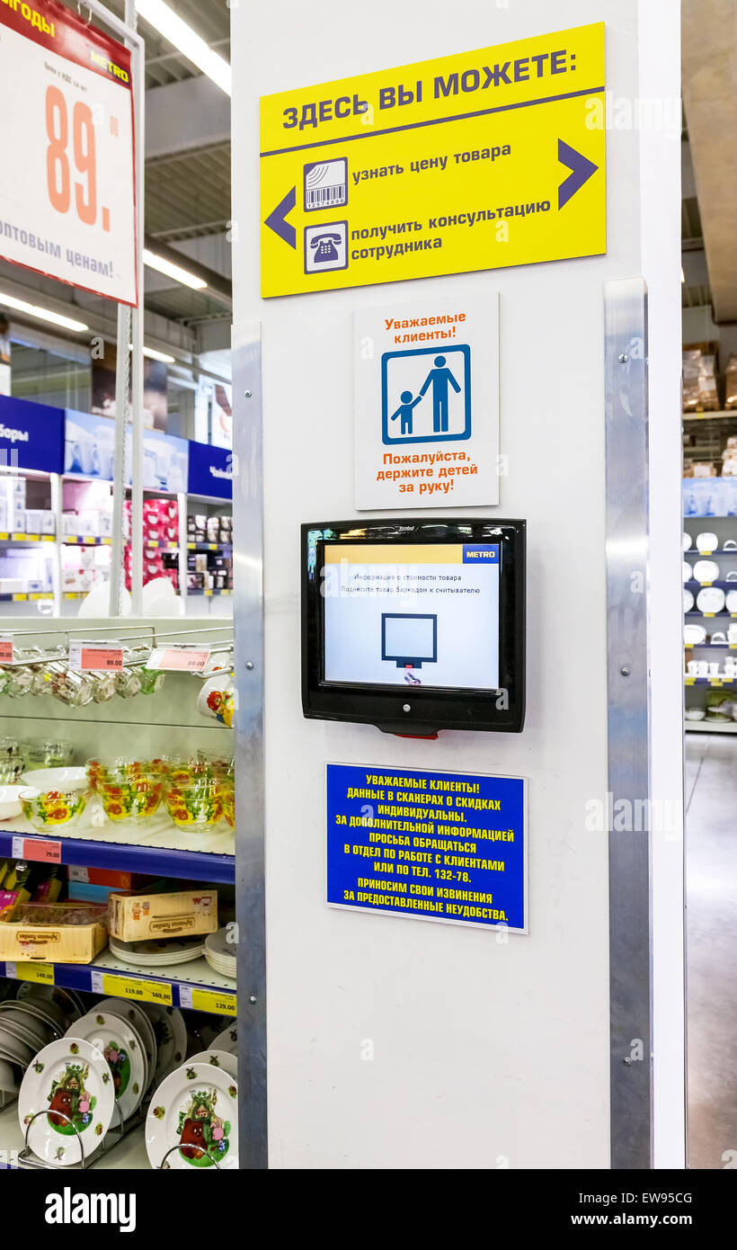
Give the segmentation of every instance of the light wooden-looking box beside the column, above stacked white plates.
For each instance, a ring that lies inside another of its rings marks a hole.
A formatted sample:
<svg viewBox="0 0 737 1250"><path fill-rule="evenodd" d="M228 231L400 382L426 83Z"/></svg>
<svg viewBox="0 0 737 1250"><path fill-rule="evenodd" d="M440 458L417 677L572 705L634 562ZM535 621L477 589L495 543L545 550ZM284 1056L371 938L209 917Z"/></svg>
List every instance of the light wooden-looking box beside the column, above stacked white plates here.
<svg viewBox="0 0 737 1250"><path fill-rule="evenodd" d="M176 894L111 894L110 932L120 941L180 938L217 930L217 890Z"/></svg>

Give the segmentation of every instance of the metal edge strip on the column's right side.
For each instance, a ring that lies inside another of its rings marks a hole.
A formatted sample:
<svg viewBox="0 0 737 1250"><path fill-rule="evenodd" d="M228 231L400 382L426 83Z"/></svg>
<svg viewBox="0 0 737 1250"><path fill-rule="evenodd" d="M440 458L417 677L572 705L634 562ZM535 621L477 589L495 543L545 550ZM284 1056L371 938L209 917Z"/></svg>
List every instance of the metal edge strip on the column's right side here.
<svg viewBox="0 0 737 1250"><path fill-rule="evenodd" d="M605 282L611 1166L652 1166L647 288ZM638 819L640 814L640 819ZM618 826L622 826L621 829Z"/></svg>

